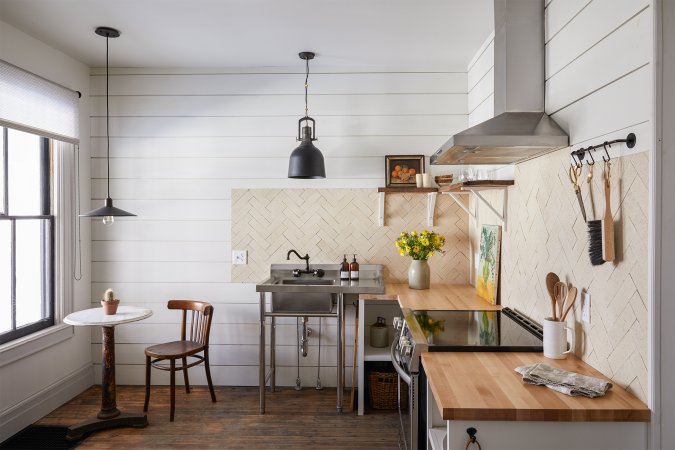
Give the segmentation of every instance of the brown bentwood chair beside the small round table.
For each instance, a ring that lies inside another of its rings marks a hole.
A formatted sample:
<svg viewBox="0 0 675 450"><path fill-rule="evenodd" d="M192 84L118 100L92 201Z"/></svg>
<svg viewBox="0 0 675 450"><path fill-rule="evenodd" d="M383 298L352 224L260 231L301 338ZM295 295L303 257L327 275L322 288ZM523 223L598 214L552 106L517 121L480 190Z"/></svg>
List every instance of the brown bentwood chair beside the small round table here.
<svg viewBox="0 0 675 450"><path fill-rule="evenodd" d="M209 383L211 400L216 401L211 382L211 370L209 368L209 333L211 332L211 319L213 318L213 306L206 302L194 300L170 300L167 304L169 309L183 310L181 323L180 341L167 342L147 347L145 349L145 405L143 411L148 410L150 402L150 371L151 366L160 370L168 370L171 377L171 414L173 422L176 407L176 371L183 371L185 379L185 392L190 393L190 381L187 370L204 362L206 369L206 381ZM189 318L188 318L189 316ZM197 353L204 352L203 355ZM195 361L188 364L188 358ZM181 362L176 365L176 360ZM167 365L165 361L169 361Z"/></svg>

